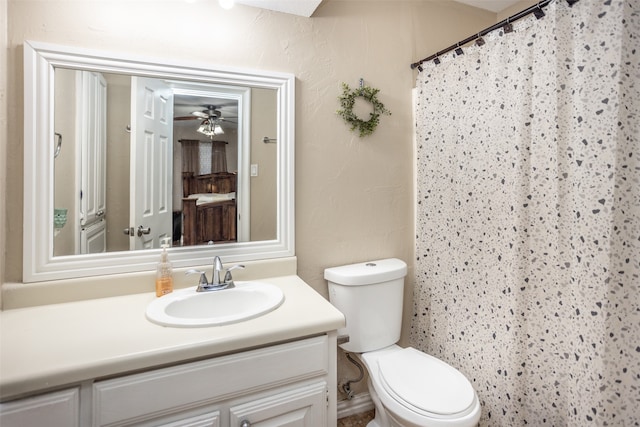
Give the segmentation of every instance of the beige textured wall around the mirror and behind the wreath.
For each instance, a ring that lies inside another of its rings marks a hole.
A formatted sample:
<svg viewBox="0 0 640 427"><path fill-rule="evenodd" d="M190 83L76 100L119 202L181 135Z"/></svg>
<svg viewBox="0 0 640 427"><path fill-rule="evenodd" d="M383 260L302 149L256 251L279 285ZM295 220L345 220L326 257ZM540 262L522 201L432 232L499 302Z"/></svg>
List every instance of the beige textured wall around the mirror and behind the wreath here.
<svg viewBox="0 0 640 427"><path fill-rule="evenodd" d="M2 214L13 230L3 244L10 248L5 281L21 281L22 44L30 39L294 73L298 271L325 296L326 267L391 256L412 265L415 75L409 64L495 21L492 13L449 0L325 0L310 19L240 5L224 11L214 0L10 0L0 7L5 4L8 67L0 75L8 80L1 106L8 109L8 135L0 141L0 162L6 155L9 178L0 207L6 203ZM380 89L393 113L365 139L335 114L340 83L356 85L360 77Z"/></svg>

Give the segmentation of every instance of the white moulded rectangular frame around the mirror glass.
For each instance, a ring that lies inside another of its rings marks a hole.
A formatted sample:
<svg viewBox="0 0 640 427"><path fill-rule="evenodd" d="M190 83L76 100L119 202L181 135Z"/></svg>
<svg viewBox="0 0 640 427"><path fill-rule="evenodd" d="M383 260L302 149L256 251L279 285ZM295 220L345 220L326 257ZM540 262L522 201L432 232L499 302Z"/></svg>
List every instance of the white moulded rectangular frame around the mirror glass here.
<svg viewBox="0 0 640 427"><path fill-rule="evenodd" d="M174 247L174 267L202 266L220 256L242 262L295 255L295 76L218 65L183 63L27 41L24 44L23 281L153 271L160 250L53 256L54 68L229 84L277 90L277 237L275 240ZM249 132L248 125L246 131ZM256 136L254 135L254 138Z"/></svg>

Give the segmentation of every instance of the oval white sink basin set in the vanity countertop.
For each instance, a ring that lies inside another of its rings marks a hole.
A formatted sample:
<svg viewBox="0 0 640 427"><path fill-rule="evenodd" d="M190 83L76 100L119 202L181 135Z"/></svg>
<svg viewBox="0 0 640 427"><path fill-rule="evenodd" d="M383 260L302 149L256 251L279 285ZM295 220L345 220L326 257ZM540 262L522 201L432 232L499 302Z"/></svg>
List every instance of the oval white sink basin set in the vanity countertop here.
<svg viewBox="0 0 640 427"><path fill-rule="evenodd" d="M181 289L147 306L147 319L163 326L194 328L220 326L253 319L278 308L284 294L267 282L236 282L221 291Z"/></svg>

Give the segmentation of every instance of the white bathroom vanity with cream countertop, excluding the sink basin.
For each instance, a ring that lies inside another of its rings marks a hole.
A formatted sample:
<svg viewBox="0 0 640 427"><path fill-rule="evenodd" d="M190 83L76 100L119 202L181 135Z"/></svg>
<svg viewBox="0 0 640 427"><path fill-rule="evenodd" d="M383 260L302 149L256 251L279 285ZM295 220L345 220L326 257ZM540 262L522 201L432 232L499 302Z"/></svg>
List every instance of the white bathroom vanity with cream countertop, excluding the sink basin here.
<svg viewBox="0 0 640 427"><path fill-rule="evenodd" d="M344 316L269 277L284 303L221 327L153 324L149 292L0 312L0 427L334 427Z"/></svg>

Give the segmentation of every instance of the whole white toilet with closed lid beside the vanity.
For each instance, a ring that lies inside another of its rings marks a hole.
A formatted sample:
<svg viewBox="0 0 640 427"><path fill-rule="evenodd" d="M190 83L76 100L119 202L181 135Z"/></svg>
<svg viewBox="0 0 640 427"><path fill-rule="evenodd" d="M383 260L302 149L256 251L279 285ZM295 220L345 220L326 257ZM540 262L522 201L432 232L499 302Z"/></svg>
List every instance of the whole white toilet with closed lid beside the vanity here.
<svg viewBox="0 0 640 427"><path fill-rule="evenodd" d="M329 300L347 326L338 331L369 372L376 415L367 427L472 427L480 402L469 380L445 362L396 345L400 339L404 277L399 259L328 268Z"/></svg>

